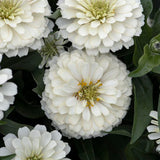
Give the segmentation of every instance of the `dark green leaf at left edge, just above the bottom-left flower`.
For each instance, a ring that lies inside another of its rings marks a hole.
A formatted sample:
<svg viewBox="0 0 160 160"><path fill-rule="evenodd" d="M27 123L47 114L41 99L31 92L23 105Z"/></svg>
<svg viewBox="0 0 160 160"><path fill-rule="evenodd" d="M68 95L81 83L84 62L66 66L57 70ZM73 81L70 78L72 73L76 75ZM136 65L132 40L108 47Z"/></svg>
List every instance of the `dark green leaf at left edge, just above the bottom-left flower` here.
<svg viewBox="0 0 160 160"><path fill-rule="evenodd" d="M20 124L9 119L4 119L4 122L5 124L0 126L0 133L3 135L7 135L8 133L17 134L18 129L24 126L32 128L31 126Z"/></svg>

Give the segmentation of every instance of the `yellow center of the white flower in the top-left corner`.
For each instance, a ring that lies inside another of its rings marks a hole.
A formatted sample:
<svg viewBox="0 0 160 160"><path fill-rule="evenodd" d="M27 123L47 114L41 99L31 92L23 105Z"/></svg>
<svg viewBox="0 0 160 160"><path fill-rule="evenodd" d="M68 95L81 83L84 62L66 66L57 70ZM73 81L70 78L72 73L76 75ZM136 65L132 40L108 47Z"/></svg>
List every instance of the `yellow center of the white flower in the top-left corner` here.
<svg viewBox="0 0 160 160"><path fill-rule="evenodd" d="M13 20L21 15L21 4L22 0L0 0L0 19Z"/></svg>

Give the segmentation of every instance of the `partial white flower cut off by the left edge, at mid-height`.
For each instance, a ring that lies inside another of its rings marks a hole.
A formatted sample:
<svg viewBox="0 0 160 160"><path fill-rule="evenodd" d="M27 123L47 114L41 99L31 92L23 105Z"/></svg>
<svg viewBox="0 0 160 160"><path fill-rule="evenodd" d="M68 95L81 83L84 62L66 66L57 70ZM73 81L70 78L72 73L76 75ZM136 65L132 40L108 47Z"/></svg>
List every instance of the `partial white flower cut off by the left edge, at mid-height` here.
<svg viewBox="0 0 160 160"><path fill-rule="evenodd" d="M0 55L0 62L2 55ZM12 71L8 68L0 70L0 120L3 118L3 111L7 111L14 102L17 94L17 86L12 82L7 82L12 78Z"/></svg>

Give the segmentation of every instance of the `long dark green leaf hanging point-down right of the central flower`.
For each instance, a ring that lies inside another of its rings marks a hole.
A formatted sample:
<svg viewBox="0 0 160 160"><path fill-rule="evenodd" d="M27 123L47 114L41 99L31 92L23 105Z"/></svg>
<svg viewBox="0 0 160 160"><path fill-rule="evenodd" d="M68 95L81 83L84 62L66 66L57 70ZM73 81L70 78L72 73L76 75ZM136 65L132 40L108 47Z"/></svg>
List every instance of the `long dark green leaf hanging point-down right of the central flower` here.
<svg viewBox="0 0 160 160"><path fill-rule="evenodd" d="M147 76L133 79L134 121L131 144L136 142L150 123L149 113L153 109L153 87Z"/></svg>

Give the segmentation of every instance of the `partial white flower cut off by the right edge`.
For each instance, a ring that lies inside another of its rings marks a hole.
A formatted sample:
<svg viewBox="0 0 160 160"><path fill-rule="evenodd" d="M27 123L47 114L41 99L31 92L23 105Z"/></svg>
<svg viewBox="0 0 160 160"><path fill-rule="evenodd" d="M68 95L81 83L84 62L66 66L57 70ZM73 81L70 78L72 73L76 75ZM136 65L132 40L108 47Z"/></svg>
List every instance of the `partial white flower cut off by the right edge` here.
<svg viewBox="0 0 160 160"><path fill-rule="evenodd" d="M157 111L151 111L150 117L153 118L151 121L151 125L147 127L148 132L150 133L148 135L148 138L150 140L156 140L156 143L158 144L156 150L160 153L160 130L158 126L158 112Z"/></svg>

